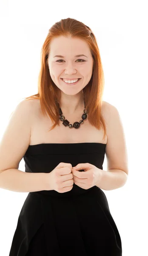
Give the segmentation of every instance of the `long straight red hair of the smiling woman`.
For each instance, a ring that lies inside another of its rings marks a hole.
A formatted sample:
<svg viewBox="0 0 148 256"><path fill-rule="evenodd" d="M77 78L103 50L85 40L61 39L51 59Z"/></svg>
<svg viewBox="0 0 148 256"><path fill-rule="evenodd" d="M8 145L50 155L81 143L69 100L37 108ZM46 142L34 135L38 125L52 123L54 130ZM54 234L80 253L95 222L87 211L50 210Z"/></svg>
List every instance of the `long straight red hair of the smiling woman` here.
<svg viewBox="0 0 148 256"><path fill-rule="evenodd" d="M100 130L100 125L104 130L104 137L106 134L105 120L101 114L102 108L102 95L104 90L104 76L102 69L102 62L100 58L99 48L97 46L97 40L91 31L91 29L84 23L67 18L56 22L49 29L46 40L41 50L41 69L38 77L38 93L31 95L23 99L40 99L41 109L43 114L46 112L54 122L51 131L56 125L59 125L59 111L55 100L59 102L59 88L55 86L51 79L48 67L48 54L50 52L50 41L52 38L59 36L80 38L88 43L91 55L93 57L93 72L89 83L83 88L83 94L85 97L85 109L88 113L88 121ZM51 90L52 89L52 90Z"/></svg>

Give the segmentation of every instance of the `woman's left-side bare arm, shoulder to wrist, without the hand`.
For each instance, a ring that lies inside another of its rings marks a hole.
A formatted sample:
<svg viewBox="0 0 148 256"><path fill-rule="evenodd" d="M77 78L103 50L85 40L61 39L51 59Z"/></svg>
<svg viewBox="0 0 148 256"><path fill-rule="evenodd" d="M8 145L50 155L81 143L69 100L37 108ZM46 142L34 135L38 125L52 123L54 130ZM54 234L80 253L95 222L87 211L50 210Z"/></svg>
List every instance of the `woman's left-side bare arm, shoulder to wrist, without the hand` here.
<svg viewBox="0 0 148 256"><path fill-rule="evenodd" d="M25 100L17 105L0 141L0 188L16 192L46 190L46 177L49 176L47 173L18 170L19 163L30 144L35 106L33 102Z"/></svg>

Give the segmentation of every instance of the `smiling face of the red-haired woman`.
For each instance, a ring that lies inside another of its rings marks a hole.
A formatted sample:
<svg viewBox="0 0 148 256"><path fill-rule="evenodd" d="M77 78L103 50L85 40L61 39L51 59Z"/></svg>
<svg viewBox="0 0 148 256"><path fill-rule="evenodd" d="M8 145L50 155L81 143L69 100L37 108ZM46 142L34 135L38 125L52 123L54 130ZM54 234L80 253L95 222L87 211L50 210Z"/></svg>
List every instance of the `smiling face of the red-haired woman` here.
<svg viewBox="0 0 148 256"><path fill-rule="evenodd" d="M55 57L61 55L63 57ZM76 55L85 55L78 56ZM88 44L80 38L59 36L50 44L48 65L51 79L65 94L75 95L88 84L92 76L93 58ZM65 83L64 79L78 79L77 84Z"/></svg>

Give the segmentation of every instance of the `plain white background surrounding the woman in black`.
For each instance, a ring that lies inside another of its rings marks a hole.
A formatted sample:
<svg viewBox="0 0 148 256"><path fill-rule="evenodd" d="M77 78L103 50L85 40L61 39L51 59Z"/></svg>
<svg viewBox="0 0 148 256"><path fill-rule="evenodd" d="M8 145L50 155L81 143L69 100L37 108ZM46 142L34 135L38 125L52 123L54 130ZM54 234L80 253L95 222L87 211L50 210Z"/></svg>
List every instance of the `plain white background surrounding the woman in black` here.
<svg viewBox="0 0 148 256"><path fill-rule="evenodd" d="M121 116L128 150L128 181L105 191L122 240L122 256L147 254L148 9L144 0L0 1L0 137L22 98L37 93L40 51L48 29L71 17L97 38L105 76L103 100ZM107 166L106 157L103 164ZM19 169L25 171L22 159ZM28 193L0 189L0 255L9 256ZM99 230L98 230L99 232Z"/></svg>

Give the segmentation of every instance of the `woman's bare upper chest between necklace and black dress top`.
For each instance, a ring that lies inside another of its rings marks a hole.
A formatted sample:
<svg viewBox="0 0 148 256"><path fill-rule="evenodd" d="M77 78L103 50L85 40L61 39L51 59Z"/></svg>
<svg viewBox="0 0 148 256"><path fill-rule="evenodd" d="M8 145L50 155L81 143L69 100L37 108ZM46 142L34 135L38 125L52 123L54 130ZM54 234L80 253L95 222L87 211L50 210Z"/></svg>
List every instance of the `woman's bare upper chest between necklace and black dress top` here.
<svg viewBox="0 0 148 256"><path fill-rule="evenodd" d="M79 122L83 113L77 113L75 116L65 116L65 119L69 123ZM60 120L60 125L56 126L51 131L53 122L49 117L43 116L40 108L36 108L34 112L32 125L31 125L31 137L30 145L40 143L107 143L107 137L102 140L104 131L101 128L98 130L88 122L87 119L83 120L83 124L80 124L79 128L69 128L63 125L63 121Z"/></svg>

